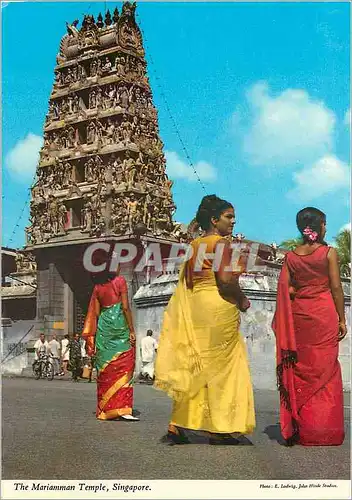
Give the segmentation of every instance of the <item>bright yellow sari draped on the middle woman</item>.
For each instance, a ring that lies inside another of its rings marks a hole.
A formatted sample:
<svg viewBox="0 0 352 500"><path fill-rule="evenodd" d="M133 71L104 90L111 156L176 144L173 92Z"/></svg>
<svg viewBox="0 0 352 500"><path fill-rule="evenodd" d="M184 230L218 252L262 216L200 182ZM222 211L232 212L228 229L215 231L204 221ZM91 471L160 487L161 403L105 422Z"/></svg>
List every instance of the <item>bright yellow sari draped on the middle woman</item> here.
<svg viewBox="0 0 352 500"><path fill-rule="evenodd" d="M197 238L214 252L220 236ZM186 286L186 263L165 310L155 363L155 387L173 400L170 424L211 433L249 434L255 427L253 390L240 312L219 294L207 261Z"/></svg>

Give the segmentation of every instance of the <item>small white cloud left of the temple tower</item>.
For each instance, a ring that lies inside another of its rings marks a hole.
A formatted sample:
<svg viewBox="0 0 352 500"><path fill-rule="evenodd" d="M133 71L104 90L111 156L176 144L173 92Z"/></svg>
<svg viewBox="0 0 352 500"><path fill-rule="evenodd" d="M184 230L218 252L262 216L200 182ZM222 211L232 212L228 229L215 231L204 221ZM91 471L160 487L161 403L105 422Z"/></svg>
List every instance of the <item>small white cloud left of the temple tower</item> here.
<svg viewBox="0 0 352 500"><path fill-rule="evenodd" d="M16 180L28 182L29 179L33 178L42 145L42 137L29 133L8 152L5 165L12 176L16 177Z"/></svg>

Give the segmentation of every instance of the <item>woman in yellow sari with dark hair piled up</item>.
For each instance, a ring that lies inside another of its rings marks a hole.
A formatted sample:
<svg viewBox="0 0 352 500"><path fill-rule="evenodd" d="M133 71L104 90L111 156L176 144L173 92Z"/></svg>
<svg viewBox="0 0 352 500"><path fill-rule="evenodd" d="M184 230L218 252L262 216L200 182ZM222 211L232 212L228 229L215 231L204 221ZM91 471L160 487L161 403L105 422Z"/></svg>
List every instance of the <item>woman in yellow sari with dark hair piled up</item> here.
<svg viewBox="0 0 352 500"><path fill-rule="evenodd" d="M196 220L205 235L191 246L165 310L155 363L155 387L173 399L167 440L190 442L202 431L210 444L240 444L255 427L253 391L240 311L250 306L232 271L231 203L205 196ZM215 254L216 252L216 254ZM212 258L211 255L216 255Z"/></svg>

